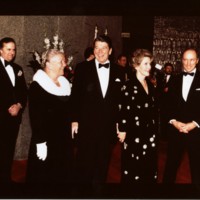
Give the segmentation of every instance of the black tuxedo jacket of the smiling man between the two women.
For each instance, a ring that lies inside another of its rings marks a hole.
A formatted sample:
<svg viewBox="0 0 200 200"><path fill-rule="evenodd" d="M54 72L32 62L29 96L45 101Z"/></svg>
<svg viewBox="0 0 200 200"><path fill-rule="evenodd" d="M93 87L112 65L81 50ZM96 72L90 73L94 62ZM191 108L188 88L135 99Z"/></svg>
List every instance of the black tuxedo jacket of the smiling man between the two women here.
<svg viewBox="0 0 200 200"><path fill-rule="evenodd" d="M107 142L117 138L118 104L124 77L121 68L111 63L108 89L103 98L95 60L76 67L71 113L72 121L79 123L78 137L81 140L102 139Z"/></svg>

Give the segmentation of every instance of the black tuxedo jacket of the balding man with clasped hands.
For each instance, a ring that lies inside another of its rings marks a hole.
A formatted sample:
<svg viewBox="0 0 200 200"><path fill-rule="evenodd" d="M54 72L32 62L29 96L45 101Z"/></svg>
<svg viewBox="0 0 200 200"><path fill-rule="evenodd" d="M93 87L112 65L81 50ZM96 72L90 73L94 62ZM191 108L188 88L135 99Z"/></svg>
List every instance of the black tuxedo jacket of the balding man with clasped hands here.
<svg viewBox="0 0 200 200"><path fill-rule="evenodd" d="M200 72L195 73L187 101L182 96L182 82L183 75L177 75L173 81L173 87L169 90L169 120L176 119L184 123L196 121L200 125ZM200 132L200 129L195 128L192 131Z"/></svg>

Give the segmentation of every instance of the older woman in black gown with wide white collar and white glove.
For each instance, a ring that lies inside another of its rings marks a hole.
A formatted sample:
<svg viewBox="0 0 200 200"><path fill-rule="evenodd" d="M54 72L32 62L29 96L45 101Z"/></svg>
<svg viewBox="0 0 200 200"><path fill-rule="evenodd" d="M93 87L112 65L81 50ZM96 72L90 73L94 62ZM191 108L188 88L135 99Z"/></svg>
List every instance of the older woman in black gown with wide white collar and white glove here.
<svg viewBox="0 0 200 200"><path fill-rule="evenodd" d="M48 50L43 70L33 76L29 89L32 128L27 181L67 183L72 170L72 140L69 122L71 86L63 76L64 53Z"/></svg>

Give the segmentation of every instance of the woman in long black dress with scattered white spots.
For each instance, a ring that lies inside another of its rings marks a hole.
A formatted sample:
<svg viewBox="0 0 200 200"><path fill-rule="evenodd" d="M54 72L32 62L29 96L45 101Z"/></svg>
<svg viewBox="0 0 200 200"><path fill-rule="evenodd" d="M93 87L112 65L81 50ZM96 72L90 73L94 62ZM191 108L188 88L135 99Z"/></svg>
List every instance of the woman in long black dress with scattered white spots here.
<svg viewBox="0 0 200 200"><path fill-rule="evenodd" d="M148 79L153 56L137 49L131 57L135 72L122 89L118 137L122 147L122 183L156 183L158 112L154 86Z"/></svg>

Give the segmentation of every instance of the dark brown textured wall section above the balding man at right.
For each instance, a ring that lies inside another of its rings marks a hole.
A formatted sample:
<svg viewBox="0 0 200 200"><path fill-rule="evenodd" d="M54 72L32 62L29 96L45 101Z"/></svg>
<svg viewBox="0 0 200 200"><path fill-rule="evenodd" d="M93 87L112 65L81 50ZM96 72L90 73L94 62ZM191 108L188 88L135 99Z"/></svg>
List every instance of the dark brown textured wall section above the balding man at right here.
<svg viewBox="0 0 200 200"><path fill-rule="evenodd" d="M173 64L181 71L181 54L186 48L195 48L200 53L199 16L155 16L153 54L156 63Z"/></svg>

